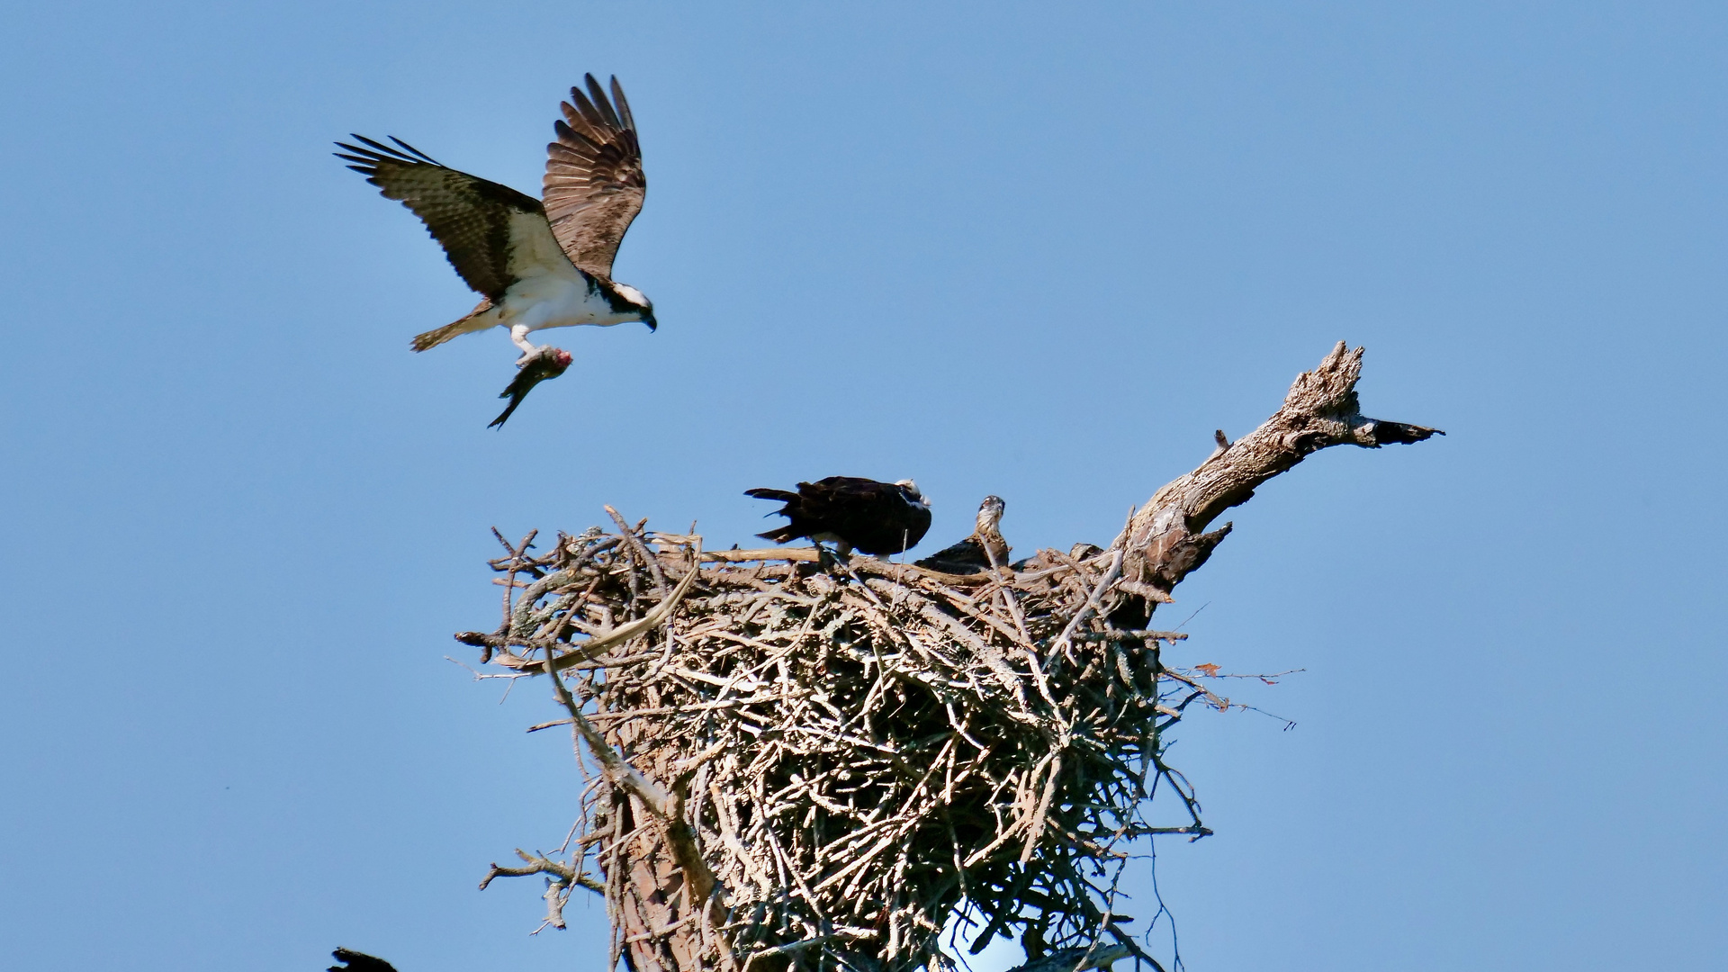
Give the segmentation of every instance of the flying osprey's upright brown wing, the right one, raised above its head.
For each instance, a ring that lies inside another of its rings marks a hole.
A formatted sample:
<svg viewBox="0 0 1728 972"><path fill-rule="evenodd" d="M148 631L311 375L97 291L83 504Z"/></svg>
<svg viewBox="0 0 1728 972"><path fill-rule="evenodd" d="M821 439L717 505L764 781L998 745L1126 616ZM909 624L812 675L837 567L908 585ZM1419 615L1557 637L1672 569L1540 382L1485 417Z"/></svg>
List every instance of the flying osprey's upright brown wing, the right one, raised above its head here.
<svg viewBox="0 0 1728 972"><path fill-rule="evenodd" d="M553 126L558 140L546 145L541 197L570 263L610 280L612 258L643 209L648 180L619 80L612 78L612 100L593 74L586 81L586 95L570 88L570 100L558 106L563 121Z"/></svg>

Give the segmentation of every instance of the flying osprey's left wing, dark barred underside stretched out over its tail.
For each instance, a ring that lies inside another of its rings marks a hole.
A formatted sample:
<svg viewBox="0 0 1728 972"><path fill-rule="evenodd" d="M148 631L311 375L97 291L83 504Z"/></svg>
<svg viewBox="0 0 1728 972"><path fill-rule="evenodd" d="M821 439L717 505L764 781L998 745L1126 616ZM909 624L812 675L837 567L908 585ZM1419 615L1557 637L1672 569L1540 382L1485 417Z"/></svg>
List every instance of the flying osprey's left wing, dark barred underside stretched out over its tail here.
<svg viewBox="0 0 1728 972"><path fill-rule="evenodd" d="M365 145L337 142L346 154L335 156L353 163L347 168L365 175L385 199L413 209L444 247L456 273L492 303L503 299L515 278L513 249L544 249L522 247L522 237L534 233L532 223L546 221L534 197L442 166L401 138L391 138L397 145L394 149L363 135L354 138ZM525 253L515 256L520 263Z"/></svg>

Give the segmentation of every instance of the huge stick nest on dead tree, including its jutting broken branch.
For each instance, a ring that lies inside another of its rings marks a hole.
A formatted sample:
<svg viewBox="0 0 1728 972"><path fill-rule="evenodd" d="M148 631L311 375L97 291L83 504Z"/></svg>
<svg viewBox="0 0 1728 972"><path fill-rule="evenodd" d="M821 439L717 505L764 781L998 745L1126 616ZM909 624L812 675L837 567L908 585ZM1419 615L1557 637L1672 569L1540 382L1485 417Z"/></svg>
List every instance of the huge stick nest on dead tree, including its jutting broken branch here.
<svg viewBox="0 0 1728 972"><path fill-rule="evenodd" d="M1210 834L1163 732L1227 704L1146 621L1272 476L1436 434L1362 417L1360 365L1339 346L1108 550L952 576L703 552L610 508L619 533L505 543L503 623L458 638L553 683L565 718L536 728L570 725L589 785L565 851L487 880L544 875L560 927L600 891L636 972L945 967L962 899L976 948L1016 936L1039 969L1144 956L1101 875L1135 839Z"/></svg>

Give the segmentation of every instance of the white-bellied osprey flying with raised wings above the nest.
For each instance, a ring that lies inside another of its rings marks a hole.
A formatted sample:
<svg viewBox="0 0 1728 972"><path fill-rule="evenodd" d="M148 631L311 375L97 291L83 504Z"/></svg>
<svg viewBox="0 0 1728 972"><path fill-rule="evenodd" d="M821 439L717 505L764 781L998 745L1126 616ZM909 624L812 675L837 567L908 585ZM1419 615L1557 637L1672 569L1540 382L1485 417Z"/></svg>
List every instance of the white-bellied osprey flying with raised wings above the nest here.
<svg viewBox="0 0 1728 972"><path fill-rule="evenodd" d="M537 351L527 336L543 327L657 327L653 303L612 280L612 258L648 190L624 88L613 78L607 100L588 74L588 93L570 88L558 107L563 121L546 145L543 199L442 166L401 138L391 138L394 147L363 135L354 135L363 145L337 142L344 150L335 156L413 209L482 296L468 317L415 337L415 351L496 325L510 329L525 363Z"/></svg>

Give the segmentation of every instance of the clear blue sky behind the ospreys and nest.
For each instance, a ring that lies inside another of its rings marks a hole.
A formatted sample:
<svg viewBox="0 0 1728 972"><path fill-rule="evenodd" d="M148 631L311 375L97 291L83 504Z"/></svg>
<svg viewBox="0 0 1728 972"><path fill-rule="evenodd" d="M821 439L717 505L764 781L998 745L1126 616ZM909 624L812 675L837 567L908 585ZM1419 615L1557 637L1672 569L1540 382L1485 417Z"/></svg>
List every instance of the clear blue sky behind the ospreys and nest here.
<svg viewBox="0 0 1728 972"><path fill-rule="evenodd" d="M1236 510L1178 661L1194 972L1728 967L1718 3L0 10L0 965L600 972L529 937L567 739L444 661L487 528L710 545L916 476L1104 541L1334 341L1374 415ZM503 332L327 152L537 190L617 73L660 330L487 431ZM776 521L778 522L778 521ZM933 548L933 547L931 547ZM460 649L460 650L458 650ZM1146 884L1135 886L1142 896ZM1147 915L1147 905L1132 913Z"/></svg>

